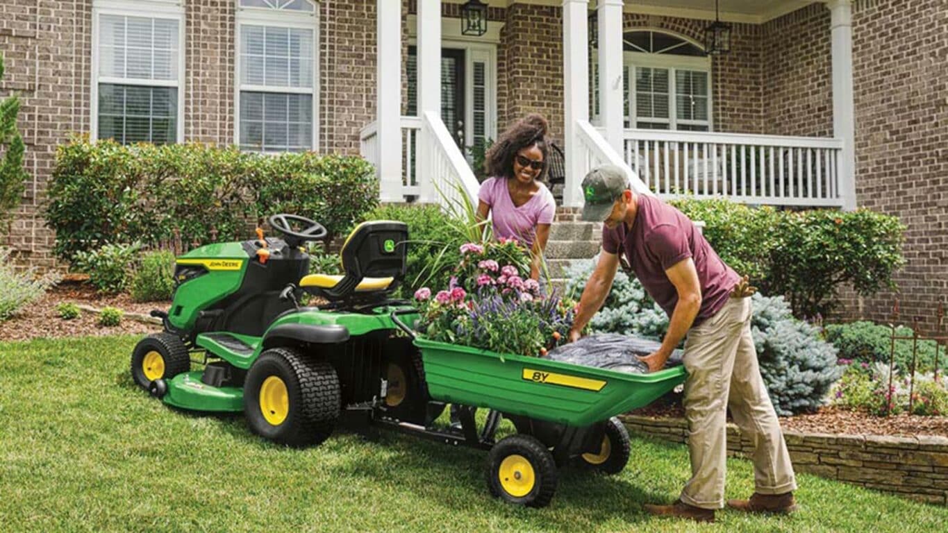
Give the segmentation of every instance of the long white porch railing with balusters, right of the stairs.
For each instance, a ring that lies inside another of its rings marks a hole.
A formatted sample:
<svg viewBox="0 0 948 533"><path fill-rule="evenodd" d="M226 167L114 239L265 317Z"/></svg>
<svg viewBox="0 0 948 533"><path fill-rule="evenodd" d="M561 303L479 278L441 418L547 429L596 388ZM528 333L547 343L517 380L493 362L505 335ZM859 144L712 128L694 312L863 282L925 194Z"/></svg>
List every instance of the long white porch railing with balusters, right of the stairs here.
<svg viewBox="0 0 948 533"><path fill-rule="evenodd" d="M842 206L843 141L737 133L626 130L625 159L662 198Z"/></svg>

